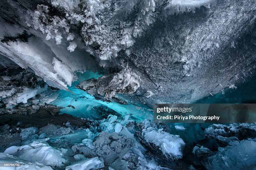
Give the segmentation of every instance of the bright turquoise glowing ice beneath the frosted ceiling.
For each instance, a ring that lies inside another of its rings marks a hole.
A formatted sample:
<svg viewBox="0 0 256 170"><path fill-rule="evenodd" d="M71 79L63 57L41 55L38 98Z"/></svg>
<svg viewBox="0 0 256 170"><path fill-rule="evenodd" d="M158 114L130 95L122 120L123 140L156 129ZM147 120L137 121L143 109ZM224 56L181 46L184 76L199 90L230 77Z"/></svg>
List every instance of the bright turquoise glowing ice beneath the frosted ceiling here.
<svg viewBox="0 0 256 170"><path fill-rule="evenodd" d="M84 73L77 73L77 76L78 81L73 82L72 86L68 88L74 94L71 94L66 90L58 90L56 92L58 94L57 99L50 103L55 106L63 107L63 109L60 110L60 114L67 113L75 117L89 120L101 120L100 118L102 115L106 114L106 116L108 116L111 113L118 114L120 117L130 115L131 119L137 121L152 119L153 112L148 110L150 108L147 106L131 103L126 105L116 102L96 100L86 91L75 87L79 82L88 80L92 77L97 79L102 76L101 74L86 71Z"/></svg>

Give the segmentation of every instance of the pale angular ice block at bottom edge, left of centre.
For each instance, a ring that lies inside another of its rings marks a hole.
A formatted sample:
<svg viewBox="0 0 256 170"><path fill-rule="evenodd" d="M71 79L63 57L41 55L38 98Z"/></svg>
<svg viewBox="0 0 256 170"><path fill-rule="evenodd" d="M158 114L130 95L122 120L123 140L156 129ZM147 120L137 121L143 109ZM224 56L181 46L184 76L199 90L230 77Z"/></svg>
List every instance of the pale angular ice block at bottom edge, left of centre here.
<svg viewBox="0 0 256 170"><path fill-rule="evenodd" d="M104 162L102 158L84 158L81 161L77 161L72 165L66 167L66 170L89 170L89 169L99 169L104 167Z"/></svg>

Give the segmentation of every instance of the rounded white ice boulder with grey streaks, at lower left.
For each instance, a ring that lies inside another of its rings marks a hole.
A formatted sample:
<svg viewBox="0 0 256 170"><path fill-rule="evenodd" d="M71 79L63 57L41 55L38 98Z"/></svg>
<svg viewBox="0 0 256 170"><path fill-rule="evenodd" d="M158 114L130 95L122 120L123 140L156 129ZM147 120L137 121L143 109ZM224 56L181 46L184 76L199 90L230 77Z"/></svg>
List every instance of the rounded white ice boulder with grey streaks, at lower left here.
<svg viewBox="0 0 256 170"><path fill-rule="evenodd" d="M61 151L52 148L48 143L34 141L28 145L11 146L4 153L17 156L21 159L40 162L50 166L61 166L66 160Z"/></svg>

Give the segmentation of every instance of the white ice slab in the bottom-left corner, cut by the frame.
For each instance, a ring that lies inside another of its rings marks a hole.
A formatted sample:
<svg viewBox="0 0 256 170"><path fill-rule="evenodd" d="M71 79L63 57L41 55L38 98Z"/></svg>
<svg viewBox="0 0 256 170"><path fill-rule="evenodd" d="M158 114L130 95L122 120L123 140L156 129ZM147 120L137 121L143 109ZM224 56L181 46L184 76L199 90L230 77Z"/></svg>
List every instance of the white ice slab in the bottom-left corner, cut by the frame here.
<svg viewBox="0 0 256 170"><path fill-rule="evenodd" d="M46 166L45 164L42 164L42 163L26 161L16 156L9 155L7 153L0 153L0 163L7 163L7 162L20 164L20 166L0 167L0 170L26 170L26 169L53 170L50 166Z"/></svg>

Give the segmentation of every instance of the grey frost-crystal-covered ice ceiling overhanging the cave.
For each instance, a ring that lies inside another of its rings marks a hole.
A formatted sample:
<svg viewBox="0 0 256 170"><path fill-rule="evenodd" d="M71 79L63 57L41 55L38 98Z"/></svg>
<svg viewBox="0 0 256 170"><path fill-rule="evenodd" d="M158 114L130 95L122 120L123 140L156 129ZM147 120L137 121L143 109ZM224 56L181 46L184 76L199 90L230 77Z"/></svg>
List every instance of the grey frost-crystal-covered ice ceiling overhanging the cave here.
<svg viewBox="0 0 256 170"><path fill-rule="evenodd" d="M189 103L254 74L251 0L2 0L0 58L66 89L101 72L106 98ZM127 95L126 95L127 93Z"/></svg>

